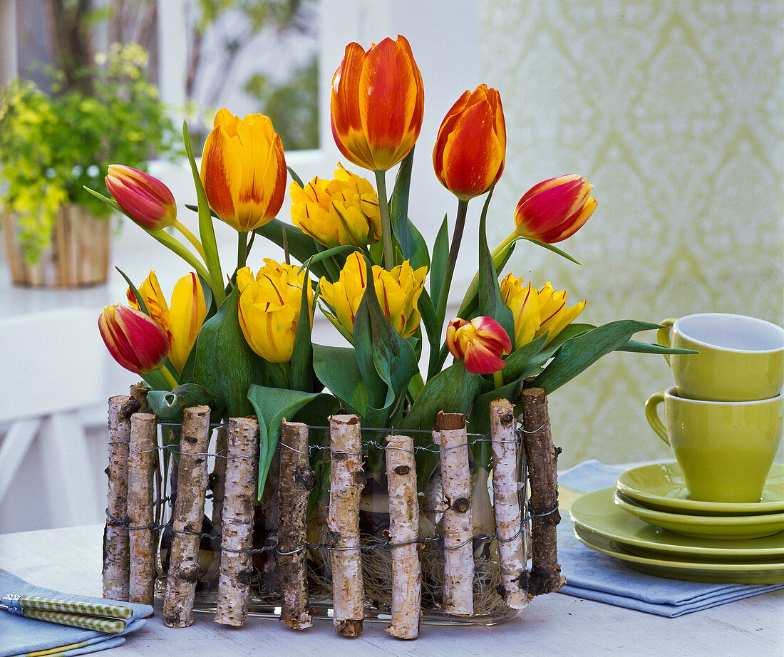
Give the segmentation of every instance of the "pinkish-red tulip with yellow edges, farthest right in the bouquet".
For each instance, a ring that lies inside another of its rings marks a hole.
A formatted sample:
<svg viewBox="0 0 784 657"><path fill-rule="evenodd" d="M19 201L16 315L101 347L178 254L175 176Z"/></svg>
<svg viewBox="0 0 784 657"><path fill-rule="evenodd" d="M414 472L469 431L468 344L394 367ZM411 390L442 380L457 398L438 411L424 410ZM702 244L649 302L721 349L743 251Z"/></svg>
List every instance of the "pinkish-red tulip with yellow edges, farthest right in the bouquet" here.
<svg viewBox="0 0 784 657"><path fill-rule="evenodd" d="M534 185L514 210L517 234L546 244L575 234L596 209L591 190L593 185L575 173Z"/></svg>

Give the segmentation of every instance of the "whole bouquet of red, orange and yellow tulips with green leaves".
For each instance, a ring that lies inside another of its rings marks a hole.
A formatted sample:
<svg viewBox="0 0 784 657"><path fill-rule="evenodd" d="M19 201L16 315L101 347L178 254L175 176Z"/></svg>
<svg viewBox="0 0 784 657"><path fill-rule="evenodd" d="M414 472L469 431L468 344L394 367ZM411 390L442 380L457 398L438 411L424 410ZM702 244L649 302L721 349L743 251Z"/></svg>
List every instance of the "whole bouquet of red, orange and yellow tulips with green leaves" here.
<svg viewBox="0 0 784 657"><path fill-rule="evenodd" d="M485 434L492 399L514 401L524 385L550 394L612 350L662 353L658 345L631 339L655 324L579 324L585 301L570 306L567 292L549 281L534 284L514 274L499 281L519 241L573 260L554 244L579 230L597 201L582 176L538 183L514 210L510 236L489 249L485 221L503 173L506 127L499 93L487 85L463 93L438 131L434 172L457 206L429 248L408 218L423 100L423 80L405 38L384 39L367 51L347 45L332 79L332 134L347 166L367 169L371 180L339 163L332 179L304 183L287 169L269 118L239 118L226 109L216 114L198 169L186 125L198 201L189 207L198 213L198 237L176 219L163 183L126 166L109 167L114 198L104 201L191 271L169 303L154 272L138 286L128 281L128 304L103 311L101 335L118 363L143 377L164 421L179 419L196 403L209 405L216 419L258 416L259 496L284 416L318 426L344 408L363 427L407 430L426 445L430 434L417 430L430 430L439 411L463 413L471 433ZM389 193L387 172L396 166ZM289 174L290 222L276 218ZM478 233L479 267L458 316L449 318L466 209L482 196L481 219L469 228ZM236 267L227 272L215 219L238 234ZM281 246L285 260L264 258L260 268L249 267L260 238ZM344 346L311 339L317 307ZM481 443L474 447L485 493L488 451ZM423 450L417 459L424 486L437 455ZM317 466L323 475L328 463Z"/></svg>

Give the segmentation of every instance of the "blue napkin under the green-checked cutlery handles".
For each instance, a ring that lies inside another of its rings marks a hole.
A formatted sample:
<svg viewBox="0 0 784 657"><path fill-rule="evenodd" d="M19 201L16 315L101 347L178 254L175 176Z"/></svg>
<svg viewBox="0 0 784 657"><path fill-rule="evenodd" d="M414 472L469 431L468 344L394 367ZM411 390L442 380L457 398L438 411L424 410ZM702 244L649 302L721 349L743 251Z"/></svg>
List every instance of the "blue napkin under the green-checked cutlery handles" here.
<svg viewBox="0 0 784 657"><path fill-rule="evenodd" d="M0 595L11 593L60 597L64 600L104 602L100 597L60 593L60 591L44 589L41 586L32 586L24 579L16 577L7 570L0 569ZM125 630L117 634L81 630L78 627L26 619L0 609L0 657L25 655L44 650L49 651L46 655L64 657L64 655L84 655L86 652L114 648L114 646L125 643L125 635L142 627L145 623L144 618L153 612L153 608L149 604L132 604L130 602L120 604L132 608L133 615L131 619L126 621Z"/></svg>

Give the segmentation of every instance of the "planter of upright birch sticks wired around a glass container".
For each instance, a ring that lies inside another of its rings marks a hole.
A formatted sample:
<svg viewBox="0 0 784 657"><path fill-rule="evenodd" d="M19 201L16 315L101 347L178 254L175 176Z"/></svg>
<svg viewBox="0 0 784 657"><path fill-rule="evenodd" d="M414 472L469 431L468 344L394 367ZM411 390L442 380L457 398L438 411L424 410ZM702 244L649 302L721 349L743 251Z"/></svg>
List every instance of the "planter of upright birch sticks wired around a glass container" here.
<svg viewBox="0 0 784 657"><path fill-rule="evenodd" d="M412 437L379 430L362 435L357 416L332 416L329 427L284 421L278 463L255 509L255 418L230 419L214 430L208 407L187 408L176 427L180 445L158 448L157 419L143 412L143 405L143 396L109 401L103 594L152 603L161 574L156 572L158 532L163 530L169 536L161 594L167 626L191 625L199 607L198 586L212 586L216 623L241 626L250 603L260 610L266 605L259 615L281 619L292 630L321 617L332 619L337 633L354 637L363 622L383 618L392 636L413 639L429 622L493 625L514 618L535 595L564 585L555 538L560 450L550 437L543 390L524 391L518 418L508 401L493 401L488 436L466 434L462 415L439 414L432 447L415 448ZM492 450L494 499L485 512L494 529L489 532L477 531L475 522L481 503L474 492L481 489L472 492L472 441L487 441ZM415 452L422 448L440 454L440 475L436 492L417 495ZM154 470L163 449L176 453L179 461L168 521L154 513ZM314 449L329 455L331 474L328 493L318 503L322 508L311 509L309 524ZM375 455L374 449L379 450ZM208 459L214 463L212 474ZM375 471L372 462L380 464ZM379 481L382 470L383 494L373 497L368 482ZM211 533L203 524L209 522L208 491ZM375 514L388 514L388 521L386 528L368 534L361 529L361 514L371 507ZM264 510L272 508L274 521L267 525ZM420 522L420 511L434 523ZM264 542L257 543L258 530L270 527ZM205 557L220 561L220 575L213 564L207 576ZM315 578L313 561L321 568ZM265 591L267 575L272 585Z"/></svg>

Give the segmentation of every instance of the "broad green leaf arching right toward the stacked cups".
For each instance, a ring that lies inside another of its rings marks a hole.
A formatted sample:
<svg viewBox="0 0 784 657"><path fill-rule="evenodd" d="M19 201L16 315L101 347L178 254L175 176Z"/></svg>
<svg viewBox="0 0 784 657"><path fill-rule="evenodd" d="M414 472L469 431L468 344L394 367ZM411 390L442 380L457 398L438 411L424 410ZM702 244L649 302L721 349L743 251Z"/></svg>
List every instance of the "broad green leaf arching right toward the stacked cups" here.
<svg viewBox="0 0 784 657"><path fill-rule="evenodd" d="M568 339L557 350L550 364L534 379L532 385L544 388L546 393L550 394L589 368L604 354L622 347L634 333L654 328L659 328L659 325L648 321L622 319Z"/></svg>

